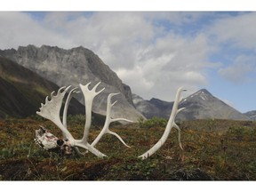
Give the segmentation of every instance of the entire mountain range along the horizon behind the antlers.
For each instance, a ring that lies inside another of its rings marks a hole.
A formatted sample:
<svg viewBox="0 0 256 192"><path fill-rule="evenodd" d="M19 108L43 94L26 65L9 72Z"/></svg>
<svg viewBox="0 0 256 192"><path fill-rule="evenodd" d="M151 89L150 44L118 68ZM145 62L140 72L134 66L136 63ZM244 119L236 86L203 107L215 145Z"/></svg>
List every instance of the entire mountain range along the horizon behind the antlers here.
<svg viewBox="0 0 256 192"><path fill-rule="evenodd" d="M112 117L125 117L133 121L140 118L168 118L173 102L151 99L143 100L132 94L130 87L123 84L100 58L84 47L61 49L56 46L20 46L17 50L0 50L0 118L35 115L46 95L61 86L101 82L99 89L106 89L95 98L92 111L106 115L107 97L111 92L121 92ZM79 100L77 102L76 100ZM83 97L72 100L68 113L84 114ZM74 103L73 103L74 102ZM73 108L74 107L74 108ZM202 89L180 101L186 108L177 119L235 119L256 120L256 111L240 113L223 101Z"/></svg>

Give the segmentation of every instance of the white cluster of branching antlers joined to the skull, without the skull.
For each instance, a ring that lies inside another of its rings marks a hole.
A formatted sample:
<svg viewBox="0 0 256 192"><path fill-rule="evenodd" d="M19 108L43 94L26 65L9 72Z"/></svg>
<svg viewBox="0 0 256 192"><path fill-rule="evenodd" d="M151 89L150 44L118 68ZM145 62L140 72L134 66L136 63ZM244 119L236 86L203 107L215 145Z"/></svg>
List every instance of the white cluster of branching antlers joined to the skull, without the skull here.
<svg viewBox="0 0 256 192"><path fill-rule="evenodd" d="M119 140L121 140L121 142L126 147L130 148L130 146L128 146L116 132L111 132L109 130L109 124L111 124L112 122L116 122L116 121L132 122L131 120L128 120L125 118L112 119L110 117L111 108L116 104L116 101L117 101L116 100L114 103L111 104L111 98L119 93L110 93L108 95L107 116L106 116L104 127L103 127L102 131L100 132L100 134L98 135L98 137L96 138L96 140L94 140L92 142L92 145L90 145L88 143L89 131L90 131L91 124L92 124L92 103L93 103L94 98L97 95L99 95L100 92L103 92L103 90L105 89L105 88L102 88L99 92L97 92L96 89L100 84L100 83L98 83L92 87L92 90L90 90L89 89L90 84L91 84L91 82L89 84L85 84L85 85L79 84L80 88L84 94L84 106L85 106L84 135L81 140L75 140L73 138L72 134L70 132L68 132L68 125L67 125L68 105L69 105L69 102L70 102L73 94L77 93L77 91L76 91L77 88L72 89L68 93L68 97L65 102L65 107L63 110L62 122L60 120L60 108L62 106L64 96L68 92L68 89L70 88L70 86L68 86L67 88L61 87L56 95L53 95L54 92L52 92L51 100L48 100L48 96L47 96L45 99L45 104L42 104L40 111L37 111L36 114L39 116L43 116L44 118L47 118L47 119L51 120L54 124L56 124L60 128L60 130L63 134L63 137L65 139L64 141L66 142L66 140L68 140L68 143L70 143L70 146L72 148L75 148L76 152L78 154L81 154L81 152L77 148L77 147L80 147L80 148L85 148L86 150L92 152L92 154L94 154L95 156L99 156L99 157L106 156L103 153L101 153L98 149L94 148L94 146L99 142L99 140L105 133L110 133L110 134L115 135ZM41 143L41 141L38 139L39 137L36 136L36 138L38 140L38 143Z"/></svg>

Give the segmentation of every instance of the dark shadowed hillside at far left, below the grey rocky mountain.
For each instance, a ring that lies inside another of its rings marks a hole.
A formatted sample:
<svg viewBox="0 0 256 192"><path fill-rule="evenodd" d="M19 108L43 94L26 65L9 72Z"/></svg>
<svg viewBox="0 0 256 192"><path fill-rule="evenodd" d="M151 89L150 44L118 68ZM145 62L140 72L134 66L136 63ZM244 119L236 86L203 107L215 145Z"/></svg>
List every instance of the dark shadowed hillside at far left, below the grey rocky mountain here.
<svg viewBox="0 0 256 192"><path fill-rule="evenodd" d="M45 97L58 89L28 68L0 56L0 118L36 115ZM84 114L84 106L72 99L68 114Z"/></svg>

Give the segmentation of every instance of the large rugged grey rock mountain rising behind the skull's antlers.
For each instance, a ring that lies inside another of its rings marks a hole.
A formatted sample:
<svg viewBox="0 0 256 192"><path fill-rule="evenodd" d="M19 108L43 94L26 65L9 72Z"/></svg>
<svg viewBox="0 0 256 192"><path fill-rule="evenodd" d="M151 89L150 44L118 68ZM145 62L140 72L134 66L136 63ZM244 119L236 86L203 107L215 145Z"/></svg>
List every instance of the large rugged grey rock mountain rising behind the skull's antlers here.
<svg viewBox="0 0 256 192"><path fill-rule="evenodd" d="M61 49L56 46L34 45L20 46L18 50L0 50L0 55L16 61L21 66L29 68L40 76L59 86L88 84L92 86L101 82L97 91L105 87L94 100L92 110L100 115L106 115L107 98L110 92L121 92L112 100L118 100L113 107L113 117L125 117L137 121L142 115L134 108L132 92L100 58L84 47ZM90 88L92 89L92 86ZM84 103L83 95L77 99Z"/></svg>

